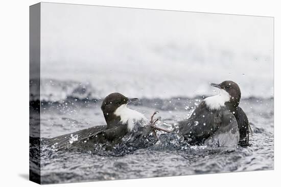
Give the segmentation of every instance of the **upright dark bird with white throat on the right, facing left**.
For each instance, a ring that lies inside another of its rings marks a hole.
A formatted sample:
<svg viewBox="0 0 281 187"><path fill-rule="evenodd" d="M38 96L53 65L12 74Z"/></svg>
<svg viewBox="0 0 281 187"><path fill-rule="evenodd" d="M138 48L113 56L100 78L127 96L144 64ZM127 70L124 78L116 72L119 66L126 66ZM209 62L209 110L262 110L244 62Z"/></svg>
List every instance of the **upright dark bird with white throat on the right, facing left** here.
<svg viewBox="0 0 281 187"><path fill-rule="evenodd" d="M239 107L241 91L233 81L210 84L220 90L205 98L191 117L177 122L179 134L190 145L219 146L236 149L238 144L248 145L249 123Z"/></svg>

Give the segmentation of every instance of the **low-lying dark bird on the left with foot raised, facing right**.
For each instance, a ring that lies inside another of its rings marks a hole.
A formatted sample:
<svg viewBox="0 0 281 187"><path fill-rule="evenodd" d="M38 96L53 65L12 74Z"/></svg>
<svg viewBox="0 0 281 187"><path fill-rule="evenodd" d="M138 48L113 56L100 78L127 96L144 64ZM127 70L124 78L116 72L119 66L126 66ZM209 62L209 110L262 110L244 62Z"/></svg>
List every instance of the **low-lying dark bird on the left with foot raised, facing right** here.
<svg viewBox="0 0 281 187"><path fill-rule="evenodd" d="M128 104L137 100L138 98L128 98L121 93L111 93L103 99L101 105L106 125L93 126L55 137L45 144L56 145L56 149L66 146L79 147L83 150L90 150L93 144L107 144L107 149L111 149L122 142L125 136L127 141L133 141L149 135L151 131L155 132L156 129L165 131L154 125L157 119L154 120L153 116L156 113L149 121L144 114L128 108Z"/></svg>

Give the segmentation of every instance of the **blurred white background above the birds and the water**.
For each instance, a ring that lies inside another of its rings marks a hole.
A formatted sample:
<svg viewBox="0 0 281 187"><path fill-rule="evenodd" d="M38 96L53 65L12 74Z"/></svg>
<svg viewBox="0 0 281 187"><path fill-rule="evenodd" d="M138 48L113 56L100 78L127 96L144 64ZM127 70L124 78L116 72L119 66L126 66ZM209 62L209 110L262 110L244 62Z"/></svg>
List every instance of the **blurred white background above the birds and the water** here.
<svg viewBox="0 0 281 187"><path fill-rule="evenodd" d="M49 3L41 10L42 78L89 83L93 97L210 95L209 82L225 80L243 97L273 96L272 17Z"/></svg>

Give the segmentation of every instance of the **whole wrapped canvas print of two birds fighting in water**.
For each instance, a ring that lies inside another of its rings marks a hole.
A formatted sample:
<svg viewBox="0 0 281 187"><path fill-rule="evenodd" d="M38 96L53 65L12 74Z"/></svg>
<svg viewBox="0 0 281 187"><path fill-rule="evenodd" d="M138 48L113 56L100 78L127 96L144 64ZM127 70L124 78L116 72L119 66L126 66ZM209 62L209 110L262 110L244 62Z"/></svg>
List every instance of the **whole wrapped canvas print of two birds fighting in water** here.
<svg viewBox="0 0 281 187"><path fill-rule="evenodd" d="M272 170L273 17L30 7L30 179Z"/></svg>

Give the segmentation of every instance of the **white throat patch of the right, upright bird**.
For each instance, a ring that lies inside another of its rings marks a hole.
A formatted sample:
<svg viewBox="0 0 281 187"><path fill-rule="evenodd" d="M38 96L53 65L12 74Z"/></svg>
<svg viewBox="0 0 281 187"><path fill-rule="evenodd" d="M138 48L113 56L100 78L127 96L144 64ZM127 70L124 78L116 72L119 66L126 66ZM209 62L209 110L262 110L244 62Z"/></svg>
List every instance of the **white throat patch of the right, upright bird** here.
<svg viewBox="0 0 281 187"><path fill-rule="evenodd" d="M207 97L204 99L206 105L210 110L219 110L224 103L230 100L230 95L223 89L220 89L218 95Z"/></svg>

